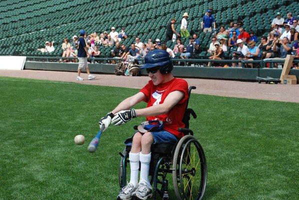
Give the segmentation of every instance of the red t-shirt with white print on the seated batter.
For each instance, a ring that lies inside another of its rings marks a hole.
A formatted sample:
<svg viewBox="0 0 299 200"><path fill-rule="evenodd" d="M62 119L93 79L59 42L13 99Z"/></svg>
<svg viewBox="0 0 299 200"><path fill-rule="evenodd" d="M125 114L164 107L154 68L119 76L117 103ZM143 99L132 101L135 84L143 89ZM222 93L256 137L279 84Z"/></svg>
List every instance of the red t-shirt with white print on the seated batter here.
<svg viewBox="0 0 299 200"><path fill-rule="evenodd" d="M154 85L151 80L140 89L145 94L147 107L162 104L166 96L172 91L181 91L184 96L174 105L167 113L157 116L146 116L146 120L161 120L163 121L163 129L181 138L182 132L177 131L177 128L184 127L182 118L185 112L185 107L188 99L188 83L181 78L173 78L168 82Z"/></svg>

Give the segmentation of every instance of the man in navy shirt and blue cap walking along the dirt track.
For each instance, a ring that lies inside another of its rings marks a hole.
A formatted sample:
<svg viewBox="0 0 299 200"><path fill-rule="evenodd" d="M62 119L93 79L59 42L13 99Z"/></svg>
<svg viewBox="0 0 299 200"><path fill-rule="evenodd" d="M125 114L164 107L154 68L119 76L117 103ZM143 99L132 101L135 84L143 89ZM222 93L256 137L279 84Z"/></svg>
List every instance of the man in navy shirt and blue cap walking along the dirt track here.
<svg viewBox="0 0 299 200"><path fill-rule="evenodd" d="M78 39L78 53L77 53L79 65L78 65L78 75L76 80L84 80L82 77L80 77L81 70L84 68L86 68L86 72L88 74L88 80L91 80L95 78L95 76L90 74L89 67L87 64L88 49L84 39L85 31L81 29L79 31L79 34L80 37Z"/></svg>

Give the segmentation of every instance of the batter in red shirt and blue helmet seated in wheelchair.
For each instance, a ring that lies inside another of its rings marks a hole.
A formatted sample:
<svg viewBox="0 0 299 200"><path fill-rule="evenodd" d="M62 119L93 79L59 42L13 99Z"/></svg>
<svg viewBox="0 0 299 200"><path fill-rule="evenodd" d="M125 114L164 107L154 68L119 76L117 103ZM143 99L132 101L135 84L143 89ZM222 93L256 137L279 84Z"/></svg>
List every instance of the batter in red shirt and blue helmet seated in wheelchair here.
<svg viewBox="0 0 299 200"><path fill-rule="evenodd" d="M148 172L151 144L175 143L183 136L177 129L184 127L182 118L188 99L188 84L184 79L173 77L172 68L172 60L165 50L149 51L141 69L146 69L150 80L139 92L121 101L98 121L100 128L104 125L105 130L110 123L121 125L135 117L146 117L146 121L138 125L138 130L124 142L131 146L128 157L130 178L117 195L118 200L150 198L152 189ZM133 108L141 101L147 103L145 108ZM147 127L148 124L152 128Z"/></svg>

